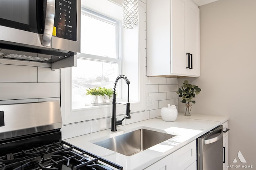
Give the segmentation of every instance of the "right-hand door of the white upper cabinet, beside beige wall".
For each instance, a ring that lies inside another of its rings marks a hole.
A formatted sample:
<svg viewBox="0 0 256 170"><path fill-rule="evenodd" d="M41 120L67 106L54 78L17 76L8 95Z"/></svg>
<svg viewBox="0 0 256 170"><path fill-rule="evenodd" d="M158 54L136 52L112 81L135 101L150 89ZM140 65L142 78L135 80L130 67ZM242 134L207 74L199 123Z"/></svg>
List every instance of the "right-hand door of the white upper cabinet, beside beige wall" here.
<svg viewBox="0 0 256 170"><path fill-rule="evenodd" d="M185 3L185 67L187 75L200 76L199 8L192 0ZM189 54L188 54L189 53Z"/></svg>

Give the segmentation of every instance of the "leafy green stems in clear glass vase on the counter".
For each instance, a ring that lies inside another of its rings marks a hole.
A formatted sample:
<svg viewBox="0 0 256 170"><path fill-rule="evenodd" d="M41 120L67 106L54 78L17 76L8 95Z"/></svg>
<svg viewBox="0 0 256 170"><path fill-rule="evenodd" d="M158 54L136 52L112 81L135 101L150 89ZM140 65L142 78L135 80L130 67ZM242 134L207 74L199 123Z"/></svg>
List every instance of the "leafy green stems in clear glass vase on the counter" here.
<svg viewBox="0 0 256 170"><path fill-rule="evenodd" d="M181 102L185 103L186 105L185 116L190 116L190 111L192 107L192 104L190 104L190 102L196 103L196 101L194 101L193 99L196 95L200 93L200 91L201 89L198 86L188 83L188 80L185 80L181 88L179 88L178 91L176 91L176 93L182 99Z"/></svg>

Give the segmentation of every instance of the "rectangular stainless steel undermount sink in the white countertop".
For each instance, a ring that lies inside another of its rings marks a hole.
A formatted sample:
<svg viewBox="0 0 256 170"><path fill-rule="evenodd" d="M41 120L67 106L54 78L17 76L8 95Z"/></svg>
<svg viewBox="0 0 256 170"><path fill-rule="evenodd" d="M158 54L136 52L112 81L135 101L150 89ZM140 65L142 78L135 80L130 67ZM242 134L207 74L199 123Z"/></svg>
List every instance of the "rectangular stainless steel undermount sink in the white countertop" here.
<svg viewBox="0 0 256 170"><path fill-rule="evenodd" d="M126 156L132 156L174 136L172 134L141 128L106 140L94 142L94 144Z"/></svg>

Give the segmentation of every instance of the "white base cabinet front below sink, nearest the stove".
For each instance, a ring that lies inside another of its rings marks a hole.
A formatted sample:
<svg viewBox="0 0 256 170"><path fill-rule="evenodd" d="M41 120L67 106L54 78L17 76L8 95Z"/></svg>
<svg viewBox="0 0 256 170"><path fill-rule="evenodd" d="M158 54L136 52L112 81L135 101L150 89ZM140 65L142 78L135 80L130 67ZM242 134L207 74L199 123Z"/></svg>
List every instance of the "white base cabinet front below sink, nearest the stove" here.
<svg viewBox="0 0 256 170"><path fill-rule="evenodd" d="M162 158L158 162L150 165L148 168L144 170L173 170L172 159L173 159L173 154L170 154Z"/></svg>

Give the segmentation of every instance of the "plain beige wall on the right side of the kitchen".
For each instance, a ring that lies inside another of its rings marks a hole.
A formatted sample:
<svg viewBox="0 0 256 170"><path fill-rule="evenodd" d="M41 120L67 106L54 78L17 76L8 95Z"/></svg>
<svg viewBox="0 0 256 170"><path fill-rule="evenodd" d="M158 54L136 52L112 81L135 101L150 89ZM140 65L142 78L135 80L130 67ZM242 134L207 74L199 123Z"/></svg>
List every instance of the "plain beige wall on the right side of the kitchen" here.
<svg viewBox="0 0 256 170"><path fill-rule="evenodd" d="M256 167L255 9L255 0L219 0L200 6L201 76L188 79L202 89L192 117L202 113L230 118L229 164L234 169ZM179 79L179 87L183 81ZM184 110L182 103L179 108ZM238 159L239 150L247 163ZM234 158L237 163L232 163Z"/></svg>

